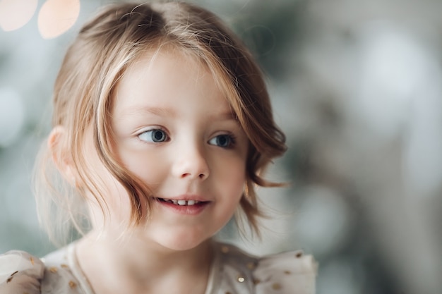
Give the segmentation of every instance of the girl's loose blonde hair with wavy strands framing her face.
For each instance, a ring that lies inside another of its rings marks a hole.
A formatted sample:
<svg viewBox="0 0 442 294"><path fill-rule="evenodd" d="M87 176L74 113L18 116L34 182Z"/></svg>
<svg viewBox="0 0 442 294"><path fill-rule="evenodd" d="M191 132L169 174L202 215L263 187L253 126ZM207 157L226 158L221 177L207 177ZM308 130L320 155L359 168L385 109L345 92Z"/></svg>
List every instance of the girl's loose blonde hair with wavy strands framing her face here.
<svg viewBox="0 0 442 294"><path fill-rule="evenodd" d="M263 75L249 51L217 16L198 6L169 2L107 6L83 26L68 48L54 86L52 124L66 129L64 146L71 148L68 153L83 185L76 188L61 177L51 152L42 147L35 167L35 193L40 221L52 240L56 241L56 235L66 240L72 226L80 233L88 230L85 191L92 193L103 212L106 209L100 177L84 157L88 152L83 147L85 132L91 125L102 164L128 192L131 223L145 217L141 199L149 200L148 187L112 154L109 114L112 91L126 68L146 50L164 44L196 56L208 66L249 138L246 188L240 206L252 231L258 233L257 216L262 213L254 186L278 185L263 179L261 173L286 149L285 135L273 121ZM53 210L58 210L56 219L50 213Z"/></svg>

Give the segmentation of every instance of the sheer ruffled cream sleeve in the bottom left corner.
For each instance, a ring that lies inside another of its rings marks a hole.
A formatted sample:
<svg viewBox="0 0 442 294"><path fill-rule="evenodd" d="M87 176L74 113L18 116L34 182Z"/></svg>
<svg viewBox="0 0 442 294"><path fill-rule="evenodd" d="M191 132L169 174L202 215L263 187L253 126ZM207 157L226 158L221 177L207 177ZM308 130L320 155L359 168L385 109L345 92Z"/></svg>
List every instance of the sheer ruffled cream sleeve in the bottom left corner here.
<svg viewBox="0 0 442 294"><path fill-rule="evenodd" d="M40 294L44 264L23 251L0 255L0 294Z"/></svg>

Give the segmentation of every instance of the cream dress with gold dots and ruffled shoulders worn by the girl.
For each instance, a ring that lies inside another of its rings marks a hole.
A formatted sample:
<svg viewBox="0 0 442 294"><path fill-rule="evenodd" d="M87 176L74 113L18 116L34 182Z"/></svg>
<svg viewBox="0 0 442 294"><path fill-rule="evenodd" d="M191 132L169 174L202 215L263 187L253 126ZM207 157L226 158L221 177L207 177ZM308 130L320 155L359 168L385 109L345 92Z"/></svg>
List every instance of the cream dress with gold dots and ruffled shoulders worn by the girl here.
<svg viewBox="0 0 442 294"><path fill-rule="evenodd" d="M42 259L23 251L0 255L0 294L95 294L80 271L74 244ZM215 243L205 294L313 294L316 263L301 251L252 257Z"/></svg>

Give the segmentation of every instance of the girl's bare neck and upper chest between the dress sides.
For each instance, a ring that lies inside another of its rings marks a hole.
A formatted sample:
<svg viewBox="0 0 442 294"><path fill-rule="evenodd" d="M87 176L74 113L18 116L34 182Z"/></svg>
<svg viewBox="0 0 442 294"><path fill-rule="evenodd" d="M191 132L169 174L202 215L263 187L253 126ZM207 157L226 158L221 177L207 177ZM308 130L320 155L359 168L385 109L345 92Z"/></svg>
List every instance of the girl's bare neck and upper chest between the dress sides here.
<svg viewBox="0 0 442 294"><path fill-rule="evenodd" d="M77 255L95 294L204 293L213 252L210 240L177 251L134 235L117 240L92 232L78 242Z"/></svg>

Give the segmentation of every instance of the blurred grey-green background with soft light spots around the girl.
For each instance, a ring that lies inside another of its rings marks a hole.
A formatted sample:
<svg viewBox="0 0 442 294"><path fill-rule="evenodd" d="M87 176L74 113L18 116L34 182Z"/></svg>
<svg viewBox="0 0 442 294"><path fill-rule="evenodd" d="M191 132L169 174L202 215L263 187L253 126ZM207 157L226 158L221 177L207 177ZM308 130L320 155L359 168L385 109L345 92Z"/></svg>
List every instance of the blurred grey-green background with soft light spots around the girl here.
<svg viewBox="0 0 442 294"><path fill-rule="evenodd" d="M44 255L30 191L64 51L98 0L0 0L0 252ZM442 1L200 0L268 80L289 150L256 254L301 248L317 292L442 293Z"/></svg>

